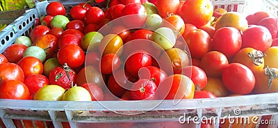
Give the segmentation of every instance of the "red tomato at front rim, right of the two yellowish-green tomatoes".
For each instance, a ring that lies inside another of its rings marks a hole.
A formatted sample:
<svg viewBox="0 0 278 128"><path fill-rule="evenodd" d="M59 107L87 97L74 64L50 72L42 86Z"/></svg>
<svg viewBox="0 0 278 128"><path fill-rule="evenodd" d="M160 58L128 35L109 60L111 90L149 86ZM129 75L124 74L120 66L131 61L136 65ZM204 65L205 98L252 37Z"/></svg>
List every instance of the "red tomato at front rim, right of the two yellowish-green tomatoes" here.
<svg viewBox="0 0 278 128"><path fill-rule="evenodd" d="M92 101L104 100L104 92L96 84L84 83L81 86L89 91Z"/></svg>

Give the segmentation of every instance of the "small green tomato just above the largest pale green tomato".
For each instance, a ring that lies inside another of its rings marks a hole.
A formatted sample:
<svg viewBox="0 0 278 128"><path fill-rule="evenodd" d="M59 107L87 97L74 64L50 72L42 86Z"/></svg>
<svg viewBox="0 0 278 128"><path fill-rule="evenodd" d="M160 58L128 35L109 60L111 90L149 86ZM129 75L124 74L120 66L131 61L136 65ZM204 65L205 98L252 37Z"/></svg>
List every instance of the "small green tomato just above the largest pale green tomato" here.
<svg viewBox="0 0 278 128"><path fill-rule="evenodd" d="M163 22L163 19L158 14L148 15L147 19L145 21L146 27L151 30L156 30L157 28L159 28L159 26L161 26L162 22Z"/></svg>

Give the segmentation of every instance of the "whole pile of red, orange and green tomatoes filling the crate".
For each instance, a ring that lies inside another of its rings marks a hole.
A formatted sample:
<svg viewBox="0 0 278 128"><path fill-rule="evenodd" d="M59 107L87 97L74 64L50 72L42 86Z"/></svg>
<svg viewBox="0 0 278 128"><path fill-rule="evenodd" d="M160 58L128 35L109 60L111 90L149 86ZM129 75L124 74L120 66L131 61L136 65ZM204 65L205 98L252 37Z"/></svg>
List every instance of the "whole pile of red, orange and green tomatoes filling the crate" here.
<svg viewBox="0 0 278 128"><path fill-rule="evenodd" d="M70 12L54 1L46 11L28 37L0 55L0 98L172 100L278 91L277 19L267 12L243 17L209 0L111 0L108 8L80 3ZM63 98L70 89L86 95Z"/></svg>

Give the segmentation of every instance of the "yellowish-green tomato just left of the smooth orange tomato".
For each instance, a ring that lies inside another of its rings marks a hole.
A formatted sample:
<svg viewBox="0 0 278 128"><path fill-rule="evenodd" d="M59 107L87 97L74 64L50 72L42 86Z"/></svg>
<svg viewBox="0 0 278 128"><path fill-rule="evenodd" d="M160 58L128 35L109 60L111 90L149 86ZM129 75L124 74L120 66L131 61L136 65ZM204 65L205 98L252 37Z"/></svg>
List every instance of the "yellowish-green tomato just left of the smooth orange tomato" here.
<svg viewBox="0 0 278 128"><path fill-rule="evenodd" d="M87 51L88 47L90 51L97 51L99 42L104 36L99 32L90 32L85 34L81 40L81 46L84 51Z"/></svg>

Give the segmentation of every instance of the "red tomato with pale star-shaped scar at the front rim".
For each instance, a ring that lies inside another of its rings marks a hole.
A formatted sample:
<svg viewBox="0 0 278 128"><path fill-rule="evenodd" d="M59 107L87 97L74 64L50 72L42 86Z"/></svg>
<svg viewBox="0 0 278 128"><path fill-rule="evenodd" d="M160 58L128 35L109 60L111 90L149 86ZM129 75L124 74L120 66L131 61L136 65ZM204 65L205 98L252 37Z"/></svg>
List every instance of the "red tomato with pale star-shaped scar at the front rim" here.
<svg viewBox="0 0 278 128"><path fill-rule="evenodd" d="M131 86L132 100L154 100L156 84L149 79L140 79Z"/></svg>

